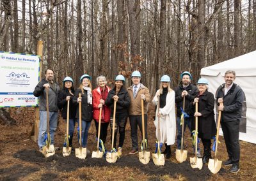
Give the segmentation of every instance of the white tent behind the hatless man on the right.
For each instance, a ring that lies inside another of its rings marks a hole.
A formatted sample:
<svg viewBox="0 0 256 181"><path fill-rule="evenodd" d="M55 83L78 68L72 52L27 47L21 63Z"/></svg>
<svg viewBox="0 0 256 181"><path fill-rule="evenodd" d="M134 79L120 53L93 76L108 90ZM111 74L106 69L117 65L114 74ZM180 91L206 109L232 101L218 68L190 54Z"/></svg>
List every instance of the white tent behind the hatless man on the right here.
<svg viewBox="0 0 256 181"><path fill-rule="evenodd" d="M225 83L228 69L236 71L235 83L243 89L246 98L244 129L241 131L240 124L239 140L256 143L256 51L201 69L201 76L209 80L209 91L214 95L221 83Z"/></svg>

